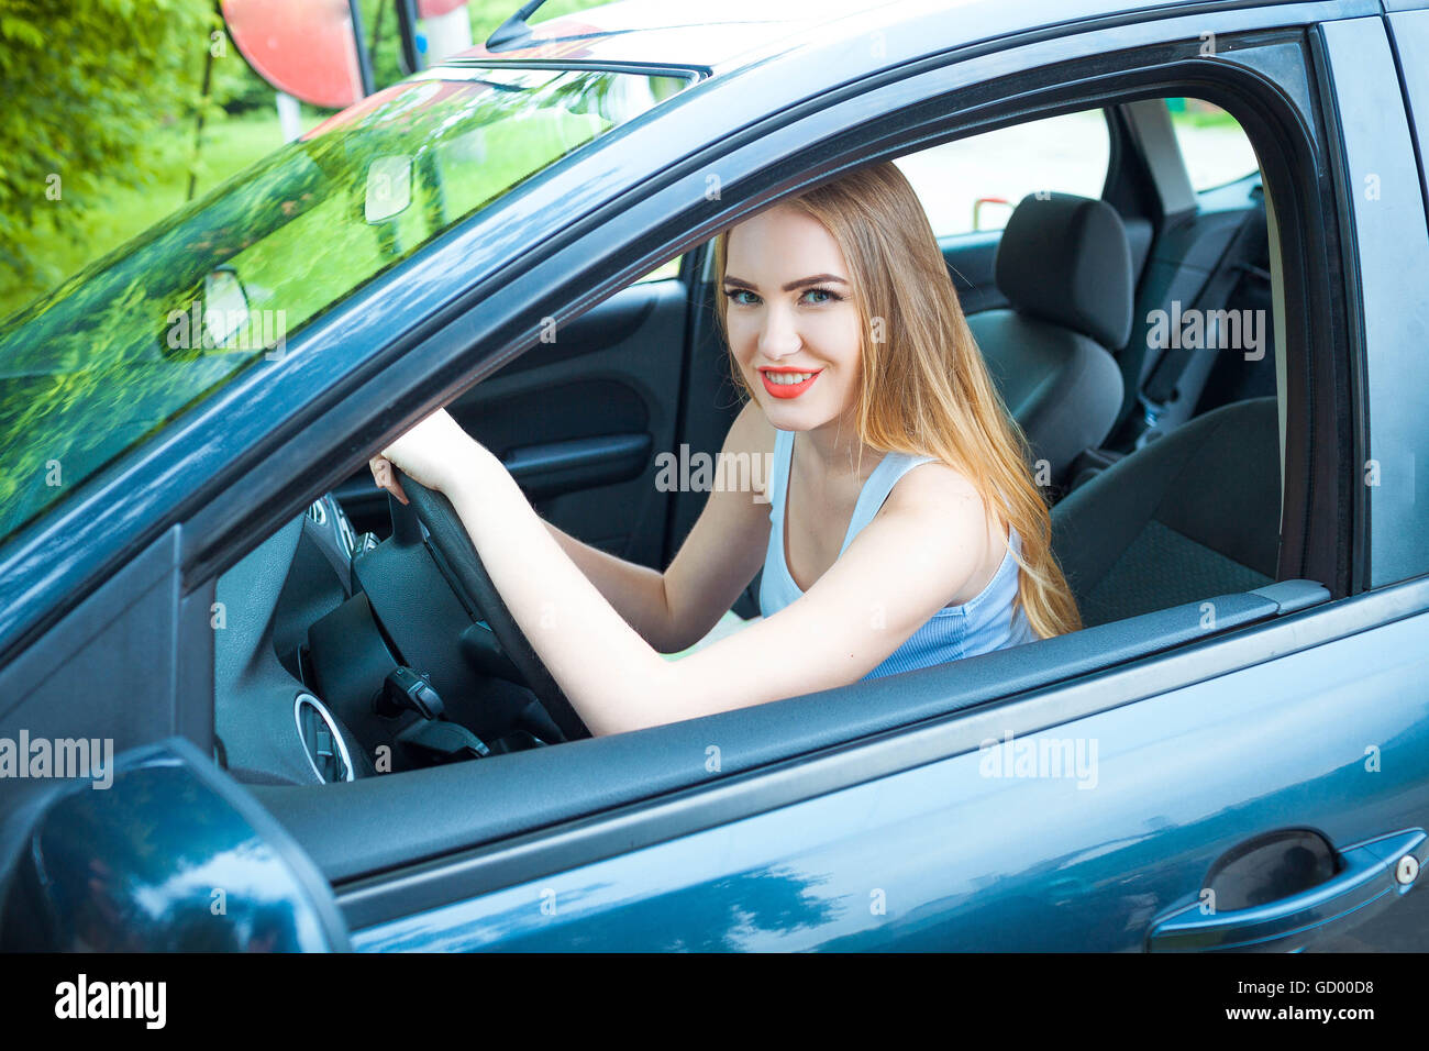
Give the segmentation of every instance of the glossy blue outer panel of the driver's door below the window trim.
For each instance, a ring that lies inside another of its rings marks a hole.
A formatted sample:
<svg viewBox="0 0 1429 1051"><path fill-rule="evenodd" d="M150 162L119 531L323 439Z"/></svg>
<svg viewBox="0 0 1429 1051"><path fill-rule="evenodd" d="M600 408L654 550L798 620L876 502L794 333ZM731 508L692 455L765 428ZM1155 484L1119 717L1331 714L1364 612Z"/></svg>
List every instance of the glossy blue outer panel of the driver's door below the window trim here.
<svg viewBox="0 0 1429 1051"><path fill-rule="evenodd" d="M977 751L356 931L353 947L1139 951L1255 837L1309 828L1345 852L1429 824L1426 631L1420 613L1036 734L1009 736L1015 706L970 715ZM1426 901L1415 885L1378 924L1300 944L1422 948Z"/></svg>

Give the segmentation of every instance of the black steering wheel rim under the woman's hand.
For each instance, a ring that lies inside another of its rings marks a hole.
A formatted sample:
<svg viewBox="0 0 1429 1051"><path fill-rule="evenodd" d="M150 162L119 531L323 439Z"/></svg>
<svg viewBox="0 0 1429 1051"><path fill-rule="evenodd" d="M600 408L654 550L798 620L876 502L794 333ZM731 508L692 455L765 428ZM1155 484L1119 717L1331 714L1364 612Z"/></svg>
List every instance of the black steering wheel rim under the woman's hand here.
<svg viewBox="0 0 1429 1051"><path fill-rule="evenodd" d="M396 466L393 466L393 473L402 483L402 490L410 502L406 510L413 512L416 520L427 528L432 546L437 549L450 571L456 575L453 589L464 592L464 598L467 599L464 605L469 609L474 609L479 618L492 629L502 652L506 653L516 666L516 671L526 679L526 686L536 695L536 699L550 715L560 732L564 734L566 741L589 738L590 729L576 715L576 709L562 692L556 679L552 678L552 673L546 671L546 665L542 663L532 643L526 639L526 633L516 623L516 618L506 608L502 593L492 583L492 576L486 572L486 566L482 565L482 556L476 552L472 535L462 525L462 518L456 513L456 508L452 506L452 500L444 493L427 489L420 482L413 480ZM414 522L409 520L404 523L397 520L397 516L404 510L402 502L393 499L390 503L393 509L393 532L413 529ZM420 533L419 529L416 532ZM459 598L463 596L459 595Z"/></svg>

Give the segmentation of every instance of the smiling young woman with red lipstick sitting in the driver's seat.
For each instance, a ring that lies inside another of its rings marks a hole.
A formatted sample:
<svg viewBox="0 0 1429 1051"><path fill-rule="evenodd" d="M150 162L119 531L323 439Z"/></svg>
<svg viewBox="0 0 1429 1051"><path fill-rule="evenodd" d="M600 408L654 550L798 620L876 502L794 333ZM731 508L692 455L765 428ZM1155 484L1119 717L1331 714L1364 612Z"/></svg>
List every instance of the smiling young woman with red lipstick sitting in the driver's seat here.
<svg viewBox="0 0 1429 1051"><path fill-rule="evenodd" d="M749 395L670 566L543 522L439 410L372 460L447 495L592 734L842 686L1080 628L1050 522L913 189L862 169L722 233L720 322ZM753 472L763 479L763 472ZM763 616L679 659L763 566Z"/></svg>

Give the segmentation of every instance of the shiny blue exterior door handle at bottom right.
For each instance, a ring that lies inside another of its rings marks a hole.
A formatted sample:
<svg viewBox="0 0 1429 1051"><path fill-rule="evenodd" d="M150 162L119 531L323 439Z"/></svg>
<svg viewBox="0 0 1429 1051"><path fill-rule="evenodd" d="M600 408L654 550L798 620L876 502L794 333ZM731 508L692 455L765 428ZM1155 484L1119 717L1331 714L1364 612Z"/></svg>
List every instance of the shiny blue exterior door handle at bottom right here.
<svg viewBox="0 0 1429 1051"><path fill-rule="evenodd" d="M1299 951L1313 939L1368 919L1415 884L1425 861L1420 828L1395 832L1339 852L1330 879L1265 905L1203 914L1200 902L1176 909L1152 928L1152 952Z"/></svg>

